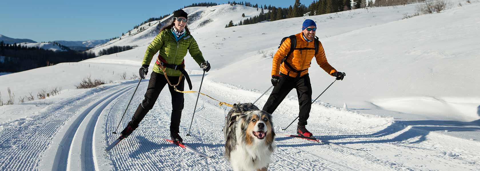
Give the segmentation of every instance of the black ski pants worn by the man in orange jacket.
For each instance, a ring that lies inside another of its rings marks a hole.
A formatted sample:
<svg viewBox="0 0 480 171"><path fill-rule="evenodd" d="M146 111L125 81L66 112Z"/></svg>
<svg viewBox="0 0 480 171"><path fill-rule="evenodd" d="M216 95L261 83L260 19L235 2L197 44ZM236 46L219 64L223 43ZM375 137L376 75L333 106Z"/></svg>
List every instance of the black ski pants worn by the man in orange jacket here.
<svg viewBox="0 0 480 171"><path fill-rule="evenodd" d="M309 74L301 76L300 78L290 77L283 73L280 73L280 75L282 76L280 81L273 88L262 110L273 114L288 93L292 89L297 89L300 106L298 125L307 125L307 119L310 116L310 109L312 108L312 84L310 83Z"/></svg>

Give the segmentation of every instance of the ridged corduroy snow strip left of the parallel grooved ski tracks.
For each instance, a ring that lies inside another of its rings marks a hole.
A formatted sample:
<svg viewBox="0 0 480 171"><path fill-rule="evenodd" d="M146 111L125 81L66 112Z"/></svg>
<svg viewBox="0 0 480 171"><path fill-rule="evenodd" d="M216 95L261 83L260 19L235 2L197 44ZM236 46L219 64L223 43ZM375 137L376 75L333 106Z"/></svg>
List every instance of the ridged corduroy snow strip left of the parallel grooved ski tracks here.
<svg viewBox="0 0 480 171"><path fill-rule="evenodd" d="M48 105L40 114L30 117L23 125L4 128L0 132L2 137L0 170L38 170L41 159L49 155L44 152L51 148L53 139L58 136L65 124L75 118L83 106L124 84L126 83L87 90L72 98Z"/></svg>

